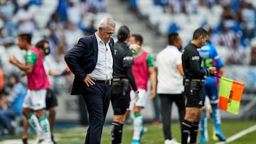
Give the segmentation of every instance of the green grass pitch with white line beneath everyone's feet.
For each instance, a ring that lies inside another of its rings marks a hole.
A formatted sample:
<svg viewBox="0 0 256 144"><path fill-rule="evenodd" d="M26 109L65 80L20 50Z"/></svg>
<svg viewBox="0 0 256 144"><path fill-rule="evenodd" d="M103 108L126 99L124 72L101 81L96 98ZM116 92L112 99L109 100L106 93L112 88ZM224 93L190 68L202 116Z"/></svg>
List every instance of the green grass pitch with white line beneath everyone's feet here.
<svg viewBox="0 0 256 144"><path fill-rule="evenodd" d="M256 121L223 121L222 131L225 134L226 138L230 138L232 135L235 135L236 133L239 133L240 131L243 131L255 125L256 125ZM144 126L147 128L147 132L144 133L141 144L164 144L164 136L161 129L162 128L161 124L157 126L151 125L151 124L145 124ZM172 126L173 137L180 142L181 131L180 131L179 124L173 123L171 126ZM213 126L212 123L209 123L208 125L208 130L209 130L208 143L209 144L218 143L218 141L214 141L212 139L212 126ZM54 135L58 144L83 144L85 140L86 130L87 130L87 127L66 128L66 129L56 130ZM123 144L131 143L132 132L133 132L133 128L131 125L124 126L124 132L123 132L123 138L122 138ZM251 133L247 133L246 135L230 143L232 144L256 143L255 135L256 135L256 131L252 131ZM21 143L21 140L19 139L20 137L21 136L12 136L12 137L9 136L9 137L1 138L0 144ZM198 138L199 137L200 137L200 134L198 133ZM32 143L33 138L35 138L35 135L34 133L31 133L31 136L28 142ZM18 140L15 140L15 139L18 139ZM11 140L11 141L6 141L6 140ZM102 144L111 144L110 126L105 126L103 128Z"/></svg>

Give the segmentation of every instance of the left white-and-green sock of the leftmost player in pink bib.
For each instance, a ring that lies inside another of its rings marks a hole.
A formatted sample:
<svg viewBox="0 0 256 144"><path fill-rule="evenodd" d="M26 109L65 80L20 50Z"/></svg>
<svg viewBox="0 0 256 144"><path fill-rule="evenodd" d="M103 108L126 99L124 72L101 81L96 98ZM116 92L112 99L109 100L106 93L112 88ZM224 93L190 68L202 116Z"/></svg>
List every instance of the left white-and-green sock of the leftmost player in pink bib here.
<svg viewBox="0 0 256 144"><path fill-rule="evenodd" d="M38 121L38 118L36 118L36 115L31 113L28 117L28 123L33 127L33 129L36 131L36 135L38 137L43 137L43 130L40 126L40 123Z"/></svg>

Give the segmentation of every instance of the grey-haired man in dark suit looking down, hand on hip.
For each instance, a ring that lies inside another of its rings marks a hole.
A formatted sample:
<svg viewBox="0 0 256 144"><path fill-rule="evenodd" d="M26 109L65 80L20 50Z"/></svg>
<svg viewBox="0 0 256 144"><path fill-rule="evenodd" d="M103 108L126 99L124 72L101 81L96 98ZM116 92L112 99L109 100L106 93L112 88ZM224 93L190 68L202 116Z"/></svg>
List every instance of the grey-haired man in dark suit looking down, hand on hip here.
<svg viewBox="0 0 256 144"><path fill-rule="evenodd" d="M82 94L89 113L86 144L100 144L102 127L110 105L114 31L114 20L103 18L95 34L80 38L65 55L65 62L75 74L71 94Z"/></svg>

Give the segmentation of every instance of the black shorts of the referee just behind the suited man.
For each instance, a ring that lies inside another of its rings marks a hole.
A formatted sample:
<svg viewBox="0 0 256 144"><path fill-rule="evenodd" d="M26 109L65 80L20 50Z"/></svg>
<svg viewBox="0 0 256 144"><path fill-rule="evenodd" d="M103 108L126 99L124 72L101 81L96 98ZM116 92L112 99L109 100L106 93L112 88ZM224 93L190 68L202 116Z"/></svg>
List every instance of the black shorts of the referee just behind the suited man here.
<svg viewBox="0 0 256 144"><path fill-rule="evenodd" d="M129 108L131 98L129 82L122 80L113 81L111 85L111 103L114 115L124 115Z"/></svg>

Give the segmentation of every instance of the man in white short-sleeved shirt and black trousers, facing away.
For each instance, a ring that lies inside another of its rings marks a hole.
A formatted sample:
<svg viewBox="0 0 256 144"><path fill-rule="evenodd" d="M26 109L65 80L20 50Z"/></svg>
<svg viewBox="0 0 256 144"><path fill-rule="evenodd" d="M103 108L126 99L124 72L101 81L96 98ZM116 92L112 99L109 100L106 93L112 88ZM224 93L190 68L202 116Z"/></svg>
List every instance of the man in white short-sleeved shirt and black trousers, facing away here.
<svg viewBox="0 0 256 144"><path fill-rule="evenodd" d="M164 129L164 144L177 144L171 137L171 106L178 107L179 121L185 116L185 96L183 95L183 68L179 49L182 40L178 33L169 35L169 45L156 56L157 89L161 101L161 118Z"/></svg>

